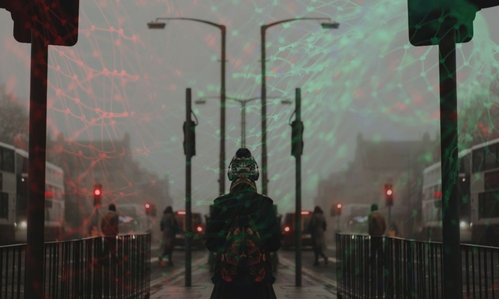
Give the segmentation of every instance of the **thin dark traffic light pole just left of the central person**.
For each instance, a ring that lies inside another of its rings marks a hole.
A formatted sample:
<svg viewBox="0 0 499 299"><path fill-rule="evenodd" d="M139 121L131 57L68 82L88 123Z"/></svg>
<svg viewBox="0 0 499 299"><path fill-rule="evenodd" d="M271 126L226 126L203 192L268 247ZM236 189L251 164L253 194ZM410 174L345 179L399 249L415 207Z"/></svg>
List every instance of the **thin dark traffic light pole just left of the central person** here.
<svg viewBox="0 0 499 299"><path fill-rule="evenodd" d="M192 99L191 89L186 89L186 269L185 269L185 286L191 286L191 238L192 238L192 211L191 211L191 158L192 152Z"/></svg>

